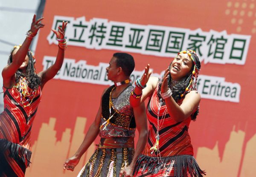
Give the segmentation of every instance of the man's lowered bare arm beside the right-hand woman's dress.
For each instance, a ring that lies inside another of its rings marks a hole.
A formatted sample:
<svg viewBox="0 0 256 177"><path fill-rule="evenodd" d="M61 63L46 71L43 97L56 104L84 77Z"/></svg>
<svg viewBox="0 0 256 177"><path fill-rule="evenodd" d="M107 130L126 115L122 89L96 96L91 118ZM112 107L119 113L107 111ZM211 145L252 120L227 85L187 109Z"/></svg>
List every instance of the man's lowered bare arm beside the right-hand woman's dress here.
<svg viewBox="0 0 256 177"><path fill-rule="evenodd" d="M136 165L137 157L140 155L141 152L143 152L145 148L145 145L147 142L147 134L148 134L145 104L142 103L140 104L139 107L134 107L133 110L134 110L136 126L139 132L139 139L137 141L137 146L136 146L134 157L131 161L131 164L120 172L120 176L122 176L122 174L125 174L125 177L133 176L133 171Z"/></svg>

